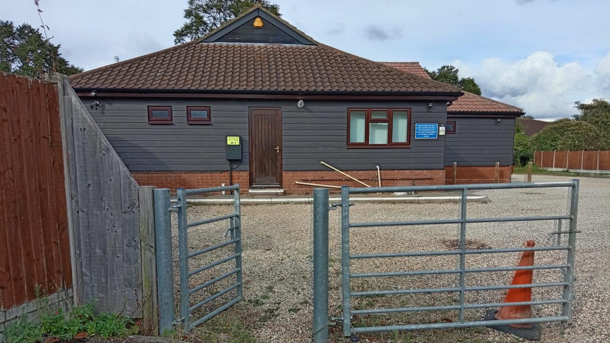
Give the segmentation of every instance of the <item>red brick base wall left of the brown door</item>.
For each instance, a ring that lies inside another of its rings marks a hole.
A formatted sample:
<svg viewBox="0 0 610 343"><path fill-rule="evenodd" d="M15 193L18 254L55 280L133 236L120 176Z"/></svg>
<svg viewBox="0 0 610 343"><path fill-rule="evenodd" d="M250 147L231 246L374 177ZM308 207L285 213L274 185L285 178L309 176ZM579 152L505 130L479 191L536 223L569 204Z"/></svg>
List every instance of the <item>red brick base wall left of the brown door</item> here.
<svg viewBox="0 0 610 343"><path fill-rule="evenodd" d="M188 189L229 186L229 172L207 173L188 172L188 171L151 171L131 173L135 181L140 186L157 186L157 188L169 188L171 192L176 192L176 188L184 187ZM239 184L242 193L248 192L250 184L248 171L233 171L233 184Z"/></svg>

